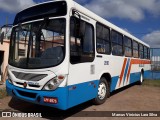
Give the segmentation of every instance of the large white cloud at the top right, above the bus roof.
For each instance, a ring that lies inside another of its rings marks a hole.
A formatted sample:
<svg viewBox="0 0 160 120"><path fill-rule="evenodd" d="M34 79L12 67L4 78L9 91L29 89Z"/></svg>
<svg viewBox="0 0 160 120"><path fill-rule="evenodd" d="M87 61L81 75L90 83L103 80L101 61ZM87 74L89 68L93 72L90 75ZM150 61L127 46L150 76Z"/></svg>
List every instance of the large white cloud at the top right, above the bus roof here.
<svg viewBox="0 0 160 120"><path fill-rule="evenodd" d="M85 7L104 18L117 17L133 21L144 19L145 12L160 15L159 6L159 0L91 0L85 4Z"/></svg>

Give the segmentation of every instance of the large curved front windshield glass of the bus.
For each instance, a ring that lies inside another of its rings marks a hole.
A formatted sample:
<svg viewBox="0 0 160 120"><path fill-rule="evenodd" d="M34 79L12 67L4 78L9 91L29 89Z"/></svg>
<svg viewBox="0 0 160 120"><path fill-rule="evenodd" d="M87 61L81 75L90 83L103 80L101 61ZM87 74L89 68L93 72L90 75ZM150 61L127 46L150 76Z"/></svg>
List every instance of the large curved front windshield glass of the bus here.
<svg viewBox="0 0 160 120"><path fill-rule="evenodd" d="M43 20L13 28L9 64L19 68L47 68L65 57L65 19Z"/></svg>

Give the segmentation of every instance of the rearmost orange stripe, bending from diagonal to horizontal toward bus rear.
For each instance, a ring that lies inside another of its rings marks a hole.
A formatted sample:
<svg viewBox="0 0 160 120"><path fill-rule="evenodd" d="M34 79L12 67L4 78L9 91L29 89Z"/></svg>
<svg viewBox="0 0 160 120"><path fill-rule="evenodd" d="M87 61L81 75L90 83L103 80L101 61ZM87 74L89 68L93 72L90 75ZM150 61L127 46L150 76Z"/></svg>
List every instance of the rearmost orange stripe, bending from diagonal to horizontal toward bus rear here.
<svg viewBox="0 0 160 120"><path fill-rule="evenodd" d="M127 73L127 82L128 82L128 78L129 78L129 75L130 75L130 72L131 72L132 64L151 64L151 61L150 60L132 59L131 64L129 66L128 73Z"/></svg>

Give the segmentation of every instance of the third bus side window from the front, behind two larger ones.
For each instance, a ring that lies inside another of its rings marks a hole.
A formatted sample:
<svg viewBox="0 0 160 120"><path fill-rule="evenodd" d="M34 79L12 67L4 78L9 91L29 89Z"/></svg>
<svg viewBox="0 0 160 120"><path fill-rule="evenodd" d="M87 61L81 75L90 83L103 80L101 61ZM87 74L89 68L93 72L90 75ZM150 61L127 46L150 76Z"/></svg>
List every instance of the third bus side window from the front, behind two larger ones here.
<svg viewBox="0 0 160 120"><path fill-rule="evenodd" d="M112 54L122 56L123 55L123 36L116 31L112 31L111 35L112 35L111 36Z"/></svg>

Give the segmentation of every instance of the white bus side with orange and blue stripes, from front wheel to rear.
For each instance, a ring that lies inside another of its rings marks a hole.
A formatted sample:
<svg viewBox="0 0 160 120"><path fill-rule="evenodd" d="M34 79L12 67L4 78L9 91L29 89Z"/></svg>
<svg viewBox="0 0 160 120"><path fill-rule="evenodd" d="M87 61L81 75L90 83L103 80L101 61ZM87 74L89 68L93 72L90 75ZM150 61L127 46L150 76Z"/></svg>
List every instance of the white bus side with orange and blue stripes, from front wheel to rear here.
<svg viewBox="0 0 160 120"><path fill-rule="evenodd" d="M150 60L102 54L101 56L101 58L96 58L95 60L96 78L98 77L97 79L100 79L103 73L109 73L112 77L111 92L139 81L142 69L144 70L144 78L146 78L151 68Z"/></svg>

